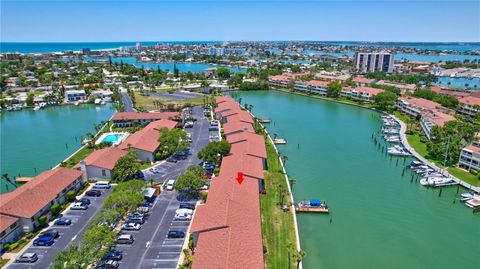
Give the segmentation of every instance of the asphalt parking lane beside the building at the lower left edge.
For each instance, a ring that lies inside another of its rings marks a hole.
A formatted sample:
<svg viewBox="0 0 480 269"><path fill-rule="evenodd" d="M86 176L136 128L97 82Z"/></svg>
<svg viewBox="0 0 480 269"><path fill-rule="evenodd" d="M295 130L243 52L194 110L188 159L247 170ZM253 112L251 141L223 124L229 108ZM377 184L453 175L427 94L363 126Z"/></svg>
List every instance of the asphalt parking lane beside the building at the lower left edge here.
<svg viewBox="0 0 480 269"><path fill-rule="evenodd" d="M60 237L55 239L55 243L50 247L33 246L31 245L25 252L35 252L38 255L38 261L34 264L13 263L8 268L48 268L50 263L54 260L55 255L67 248L71 242L79 242L87 228L90 219L95 216L103 206L105 198L110 194L111 190L102 191L100 197L88 197L91 201L87 210L68 210L63 215L72 220L70 226L51 225L50 229L55 229L59 232Z"/></svg>

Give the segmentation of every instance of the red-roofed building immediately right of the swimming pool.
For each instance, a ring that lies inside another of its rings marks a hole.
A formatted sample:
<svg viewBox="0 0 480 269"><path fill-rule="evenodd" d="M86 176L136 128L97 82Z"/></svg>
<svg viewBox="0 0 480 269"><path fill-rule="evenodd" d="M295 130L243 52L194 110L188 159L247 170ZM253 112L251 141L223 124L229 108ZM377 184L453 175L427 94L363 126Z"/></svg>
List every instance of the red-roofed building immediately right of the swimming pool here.
<svg viewBox="0 0 480 269"><path fill-rule="evenodd" d="M143 162L153 162L155 154L158 151L160 142L160 129L166 127L173 129L178 123L171 120L158 120L149 123L145 128L130 135L118 146L122 150L135 150L138 153L138 159Z"/></svg>

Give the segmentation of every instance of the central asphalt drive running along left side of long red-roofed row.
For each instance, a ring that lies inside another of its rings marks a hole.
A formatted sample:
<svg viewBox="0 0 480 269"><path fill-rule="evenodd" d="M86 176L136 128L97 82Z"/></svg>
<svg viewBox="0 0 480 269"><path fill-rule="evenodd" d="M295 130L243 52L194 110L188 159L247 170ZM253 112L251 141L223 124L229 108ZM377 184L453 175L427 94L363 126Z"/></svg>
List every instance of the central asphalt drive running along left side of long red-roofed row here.
<svg viewBox="0 0 480 269"><path fill-rule="evenodd" d="M192 115L198 120L194 127L187 129L192 133L192 155L187 160L177 163L164 162L158 166L158 174L145 171L147 179L161 182L165 179L176 179L190 165L200 163L197 152L208 144L208 121L203 117L203 109L195 107ZM187 231L189 221L174 221L175 210L180 202L175 191L162 192L151 208L150 216L138 232L130 233L134 237L132 245L118 245L116 248L123 251L120 268L176 268L185 239L167 239L170 229Z"/></svg>

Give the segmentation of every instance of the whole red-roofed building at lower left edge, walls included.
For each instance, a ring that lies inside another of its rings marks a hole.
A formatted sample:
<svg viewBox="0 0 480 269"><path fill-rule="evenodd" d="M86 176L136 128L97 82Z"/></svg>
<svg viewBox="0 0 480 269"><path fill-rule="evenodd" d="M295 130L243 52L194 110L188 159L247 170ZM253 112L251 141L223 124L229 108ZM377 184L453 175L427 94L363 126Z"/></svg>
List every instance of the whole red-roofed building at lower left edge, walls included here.
<svg viewBox="0 0 480 269"><path fill-rule="evenodd" d="M50 207L66 201L70 190L82 186L82 172L59 167L47 170L12 192L0 195L1 245L39 227L39 218L52 213Z"/></svg>

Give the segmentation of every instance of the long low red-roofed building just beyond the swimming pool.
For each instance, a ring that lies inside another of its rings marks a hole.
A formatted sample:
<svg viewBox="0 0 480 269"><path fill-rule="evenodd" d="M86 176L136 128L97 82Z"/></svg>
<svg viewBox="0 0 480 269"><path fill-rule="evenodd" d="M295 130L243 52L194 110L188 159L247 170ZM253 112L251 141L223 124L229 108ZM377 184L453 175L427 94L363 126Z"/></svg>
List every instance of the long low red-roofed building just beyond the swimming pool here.
<svg viewBox="0 0 480 269"><path fill-rule="evenodd" d="M152 121L161 119L179 119L179 112L117 112L112 117L116 128L145 126Z"/></svg>

